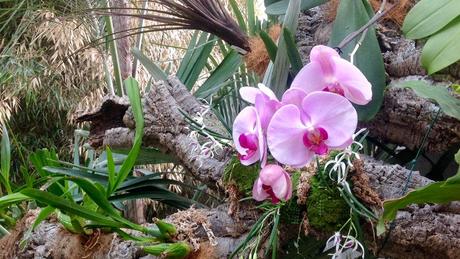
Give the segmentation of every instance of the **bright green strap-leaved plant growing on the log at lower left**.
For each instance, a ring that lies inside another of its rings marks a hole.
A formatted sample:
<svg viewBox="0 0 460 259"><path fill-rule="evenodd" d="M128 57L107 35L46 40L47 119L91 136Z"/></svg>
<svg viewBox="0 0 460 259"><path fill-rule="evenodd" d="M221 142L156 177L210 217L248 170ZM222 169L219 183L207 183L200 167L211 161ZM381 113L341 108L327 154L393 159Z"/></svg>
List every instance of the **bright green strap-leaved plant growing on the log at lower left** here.
<svg viewBox="0 0 460 259"><path fill-rule="evenodd" d="M131 175L141 152L144 119L137 82L127 79L125 84L136 120L134 145L127 156L114 154L107 148L100 157L102 159L94 161L91 167L83 167L59 161L54 152L42 150L34 153L31 161L37 167L40 179L45 180L45 183L40 184L40 181L37 181L31 186L19 188L18 192L13 192L9 182L9 142L4 129L0 179L8 195L0 199L0 212L2 218L7 221L7 227L14 225L14 221L4 214L3 210L17 208L16 204L32 200L42 209L30 231L51 213L56 213L59 222L72 233L88 235L94 228L106 228L124 238L142 242L144 246L153 244L145 246L145 251L152 254L173 253L180 247L180 257L190 252L186 244L168 244L175 235L174 226L156 221L156 228L147 228L123 218L116 209L123 208L121 202L124 200L139 198L158 200L177 208L187 208L194 203L167 189L171 184L183 185L181 182L163 179L160 173L150 173L143 177ZM122 228L139 231L147 237L133 236ZM4 227L1 230L2 234L7 233ZM160 244L164 244L164 247L158 247Z"/></svg>

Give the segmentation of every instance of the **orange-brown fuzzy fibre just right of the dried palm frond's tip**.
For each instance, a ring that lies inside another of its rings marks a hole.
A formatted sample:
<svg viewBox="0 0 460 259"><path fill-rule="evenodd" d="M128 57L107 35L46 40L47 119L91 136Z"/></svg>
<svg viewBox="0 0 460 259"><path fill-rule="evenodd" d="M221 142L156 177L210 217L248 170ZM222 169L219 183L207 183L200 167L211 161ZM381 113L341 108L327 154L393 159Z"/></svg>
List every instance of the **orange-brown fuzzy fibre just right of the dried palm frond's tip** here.
<svg viewBox="0 0 460 259"><path fill-rule="evenodd" d="M269 36L277 42L281 33L281 26L276 24L269 30ZM264 41L259 36L254 36L249 39L251 52L248 53L244 59L246 66L250 71L255 72L259 77L263 77L270 63L270 56L268 55L267 48Z"/></svg>

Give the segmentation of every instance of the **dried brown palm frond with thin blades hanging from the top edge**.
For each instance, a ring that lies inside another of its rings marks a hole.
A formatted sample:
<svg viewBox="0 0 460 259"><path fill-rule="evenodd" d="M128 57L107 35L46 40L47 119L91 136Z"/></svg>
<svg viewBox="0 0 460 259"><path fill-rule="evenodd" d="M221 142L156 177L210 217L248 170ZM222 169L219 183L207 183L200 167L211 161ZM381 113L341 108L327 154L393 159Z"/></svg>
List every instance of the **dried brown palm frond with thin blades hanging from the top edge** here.
<svg viewBox="0 0 460 259"><path fill-rule="evenodd" d="M120 8L95 8L91 11L99 15L129 16L156 22L154 25L144 27L145 32L179 29L209 32L241 53L250 51L246 34L219 0L153 0L152 2L163 8L123 8L123 12ZM127 10L131 13L126 12ZM135 11L146 11L146 13L139 14ZM137 34L140 28L133 28L131 31L133 31L131 35Z"/></svg>

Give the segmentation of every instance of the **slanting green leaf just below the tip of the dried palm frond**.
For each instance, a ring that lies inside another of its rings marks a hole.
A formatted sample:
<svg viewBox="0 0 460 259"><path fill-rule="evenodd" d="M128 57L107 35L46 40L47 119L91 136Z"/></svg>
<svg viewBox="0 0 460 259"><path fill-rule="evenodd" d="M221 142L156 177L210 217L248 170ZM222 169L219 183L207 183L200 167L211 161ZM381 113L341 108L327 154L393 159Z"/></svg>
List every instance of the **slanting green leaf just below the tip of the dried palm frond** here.
<svg viewBox="0 0 460 259"><path fill-rule="evenodd" d="M222 60L222 63L211 73L209 78L195 92L197 98L205 99L216 93L222 84L232 77L240 67L243 59L236 51L230 51Z"/></svg>

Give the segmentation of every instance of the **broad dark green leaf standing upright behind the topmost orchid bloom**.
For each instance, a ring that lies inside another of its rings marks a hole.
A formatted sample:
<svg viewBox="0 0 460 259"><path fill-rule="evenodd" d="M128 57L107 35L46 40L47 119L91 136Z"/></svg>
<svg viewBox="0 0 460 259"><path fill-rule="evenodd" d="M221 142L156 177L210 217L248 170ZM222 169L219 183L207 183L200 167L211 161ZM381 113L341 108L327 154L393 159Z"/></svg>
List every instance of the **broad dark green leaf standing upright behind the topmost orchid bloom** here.
<svg viewBox="0 0 460 259"><path fill-rule="evenodd" d="M371 9L366 0L340 1L329 45L337 46L346 36L365 25L370 19L369 10ZM350 42L342 50L344 58L349 58L349 54L352 53L359 38ZM362 45L356 52L354 64L372 84L372 101L365 106L355 105L359 120L367 121L372 119L380 110L383 92L386 88L385 66L374 28L369 29Z"/></svg>

